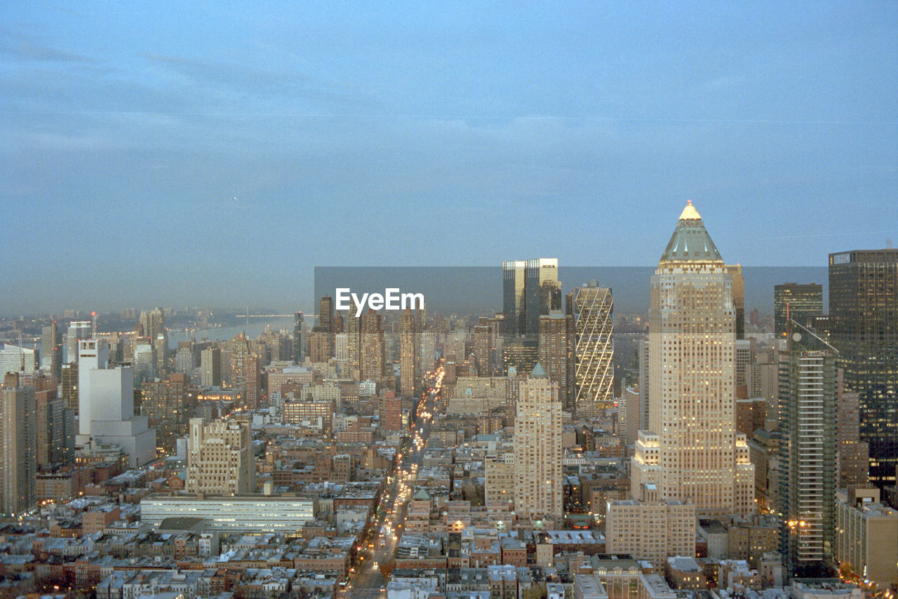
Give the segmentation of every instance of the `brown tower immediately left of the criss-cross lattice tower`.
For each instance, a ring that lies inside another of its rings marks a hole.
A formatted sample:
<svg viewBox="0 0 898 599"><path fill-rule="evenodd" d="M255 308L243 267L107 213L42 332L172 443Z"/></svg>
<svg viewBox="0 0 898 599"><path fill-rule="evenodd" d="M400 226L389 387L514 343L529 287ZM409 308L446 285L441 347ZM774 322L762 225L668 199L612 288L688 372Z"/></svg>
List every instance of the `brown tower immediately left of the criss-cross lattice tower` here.
<svg viewBox="0 0 898 599"><path fill-rule="evenodd" d="M559 385L559 401L567 412L574 411L574 317L560 310L540 316L539 360L551 381ZM592 412L590 412L592 413Z"/></svg>

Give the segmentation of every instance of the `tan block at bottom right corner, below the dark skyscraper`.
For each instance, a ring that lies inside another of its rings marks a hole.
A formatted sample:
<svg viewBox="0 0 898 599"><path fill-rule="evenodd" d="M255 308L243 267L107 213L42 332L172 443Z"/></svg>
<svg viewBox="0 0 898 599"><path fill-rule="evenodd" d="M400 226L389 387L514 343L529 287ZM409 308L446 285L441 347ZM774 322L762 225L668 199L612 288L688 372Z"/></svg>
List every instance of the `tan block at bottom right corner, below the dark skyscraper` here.
<svg viewBox="0 0 898 599"><path fill-rule="evenodd" d="M835 559L882 588L898 583L898 512L879 489L836 491Z"/></svg>

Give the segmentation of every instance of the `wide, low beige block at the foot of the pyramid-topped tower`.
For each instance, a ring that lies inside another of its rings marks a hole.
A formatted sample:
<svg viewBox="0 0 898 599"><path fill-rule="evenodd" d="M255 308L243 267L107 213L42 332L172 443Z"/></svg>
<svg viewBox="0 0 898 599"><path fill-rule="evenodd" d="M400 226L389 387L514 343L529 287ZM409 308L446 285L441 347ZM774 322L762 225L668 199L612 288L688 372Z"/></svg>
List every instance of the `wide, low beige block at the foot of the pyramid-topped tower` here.
<svg viewBox="0 0 898 599"><path fill-rule="evenodd" d="M653 494L649 486L649 496ZM654 492L656 495L656 492ZM695 556L695 506L685 501L609 501L605 511L605 551L635 559Z"/></svg>

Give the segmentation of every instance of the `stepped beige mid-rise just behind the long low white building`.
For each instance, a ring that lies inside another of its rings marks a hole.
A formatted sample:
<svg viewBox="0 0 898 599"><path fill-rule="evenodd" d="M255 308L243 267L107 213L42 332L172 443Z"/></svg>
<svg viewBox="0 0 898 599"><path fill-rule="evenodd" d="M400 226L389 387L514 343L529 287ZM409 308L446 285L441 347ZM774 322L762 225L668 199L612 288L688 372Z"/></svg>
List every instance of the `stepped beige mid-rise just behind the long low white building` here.
<svg viewBox="0 0 898 599"><path fill-rule="evenodd" d="M256 490L250 423L190 418L187 453L188 493L234 495Z"/></svg>

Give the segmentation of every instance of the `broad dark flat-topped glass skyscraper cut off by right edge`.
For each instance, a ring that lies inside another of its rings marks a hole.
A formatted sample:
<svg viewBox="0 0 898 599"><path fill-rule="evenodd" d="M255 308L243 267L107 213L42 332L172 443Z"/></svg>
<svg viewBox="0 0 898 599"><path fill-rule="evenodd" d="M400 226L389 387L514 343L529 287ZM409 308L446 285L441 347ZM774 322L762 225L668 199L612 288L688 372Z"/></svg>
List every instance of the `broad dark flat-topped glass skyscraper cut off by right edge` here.
<svg viewBox="0 0 898 599"><path fill-rule="evenodd" d="M898 466L898 250L830 254L830 339L858 392L870 480L893 485Z"/></svg>

